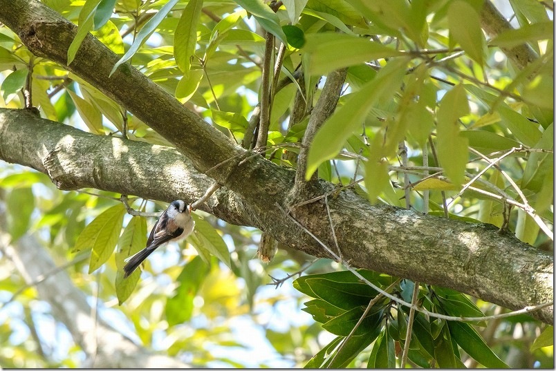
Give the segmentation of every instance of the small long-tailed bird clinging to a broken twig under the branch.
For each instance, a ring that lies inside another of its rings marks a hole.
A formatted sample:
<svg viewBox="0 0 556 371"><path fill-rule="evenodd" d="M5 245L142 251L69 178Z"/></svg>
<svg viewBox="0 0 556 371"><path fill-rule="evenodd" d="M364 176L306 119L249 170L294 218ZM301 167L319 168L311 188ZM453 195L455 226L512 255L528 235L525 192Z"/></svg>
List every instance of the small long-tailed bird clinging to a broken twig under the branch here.
<svg viewBox="0 0 556 371"><path fill-rule="evenodd" d="M147 240L147 247L126 259L124 278L132 274L157 247L169 241L186 238L194 227L195 221L191 217L191 209L188 205L182 200L172 201L156 221Z"/></svg>

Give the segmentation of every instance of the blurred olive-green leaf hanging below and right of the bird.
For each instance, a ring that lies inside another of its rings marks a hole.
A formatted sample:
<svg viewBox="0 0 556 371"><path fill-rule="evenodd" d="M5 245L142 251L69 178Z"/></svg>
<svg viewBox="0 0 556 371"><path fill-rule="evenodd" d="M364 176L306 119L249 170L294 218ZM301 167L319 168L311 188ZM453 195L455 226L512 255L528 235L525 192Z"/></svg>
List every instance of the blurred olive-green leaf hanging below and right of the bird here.
<svg viewBox="0 0 556 371"><path fill-rule="evenodd" d="M165 312L168 325L178 325L191 319L194 308L193 299L209 272L210 266L203 262L200 256L196 256L183 267L183 271L178 276L180 285L176 290L176 295L166 302Z"/></svg>

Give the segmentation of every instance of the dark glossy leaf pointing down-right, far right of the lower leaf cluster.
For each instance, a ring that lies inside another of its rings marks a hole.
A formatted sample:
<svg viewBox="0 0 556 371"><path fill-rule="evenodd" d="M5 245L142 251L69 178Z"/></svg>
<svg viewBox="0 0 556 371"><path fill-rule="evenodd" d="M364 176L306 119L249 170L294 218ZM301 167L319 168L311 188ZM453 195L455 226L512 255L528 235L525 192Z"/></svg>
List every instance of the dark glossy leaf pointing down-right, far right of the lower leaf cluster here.
<svg viewBox="0 0 556 371"><path fill-rule="evenodd" d="M509 368L490 350L471 325L457 321L447 321L447 324L456 343L475 361L487 368Z"/></svg>

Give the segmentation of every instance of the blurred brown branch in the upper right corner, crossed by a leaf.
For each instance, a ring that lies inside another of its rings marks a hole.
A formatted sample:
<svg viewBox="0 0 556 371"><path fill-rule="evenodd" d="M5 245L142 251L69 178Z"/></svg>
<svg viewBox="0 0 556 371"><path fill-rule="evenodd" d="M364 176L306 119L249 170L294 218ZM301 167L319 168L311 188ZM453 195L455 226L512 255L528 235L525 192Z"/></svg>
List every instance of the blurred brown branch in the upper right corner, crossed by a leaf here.
<svg viewBox="0 0 556 371"><path fill-rule="evenodd" d="M510 22L506 21L506 18L501 15L490 0L485 0L481 10L481 27L491 39L497 37L503 31L513 29ZM521 44L514 48L501 47L501 50L521 69L538 58L537 53L527 44Z"/></svg>

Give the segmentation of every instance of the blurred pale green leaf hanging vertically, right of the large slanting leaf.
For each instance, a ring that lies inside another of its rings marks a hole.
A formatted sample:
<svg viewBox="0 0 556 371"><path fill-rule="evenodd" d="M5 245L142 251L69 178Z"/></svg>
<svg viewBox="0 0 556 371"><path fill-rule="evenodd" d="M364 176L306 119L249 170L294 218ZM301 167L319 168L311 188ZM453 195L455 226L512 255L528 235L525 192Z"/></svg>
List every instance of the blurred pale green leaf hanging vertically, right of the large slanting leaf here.
<svg viewBox="0 0 556 371"><path fill-rule="evenodd" d="M463 184L465 179L465 165L468 159L468 140L460 135L459 117L467 113L469 113L467 95L463 86L458 85L444 95L437 115L438 161L445 169L447 177L458 186Z"/></svg>

